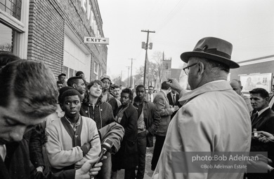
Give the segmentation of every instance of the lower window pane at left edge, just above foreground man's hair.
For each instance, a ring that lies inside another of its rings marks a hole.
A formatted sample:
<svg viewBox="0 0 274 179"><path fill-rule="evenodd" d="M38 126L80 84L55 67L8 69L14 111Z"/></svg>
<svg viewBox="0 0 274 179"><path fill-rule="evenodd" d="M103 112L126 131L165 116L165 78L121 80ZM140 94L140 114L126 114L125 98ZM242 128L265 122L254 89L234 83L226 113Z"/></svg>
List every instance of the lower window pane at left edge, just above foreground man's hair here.
<svg viewBox="0 0 274 179"><path fill-rule="evenodd" d="M13 29L0 23L0 52L13 52L14 34Z"/></svg>

